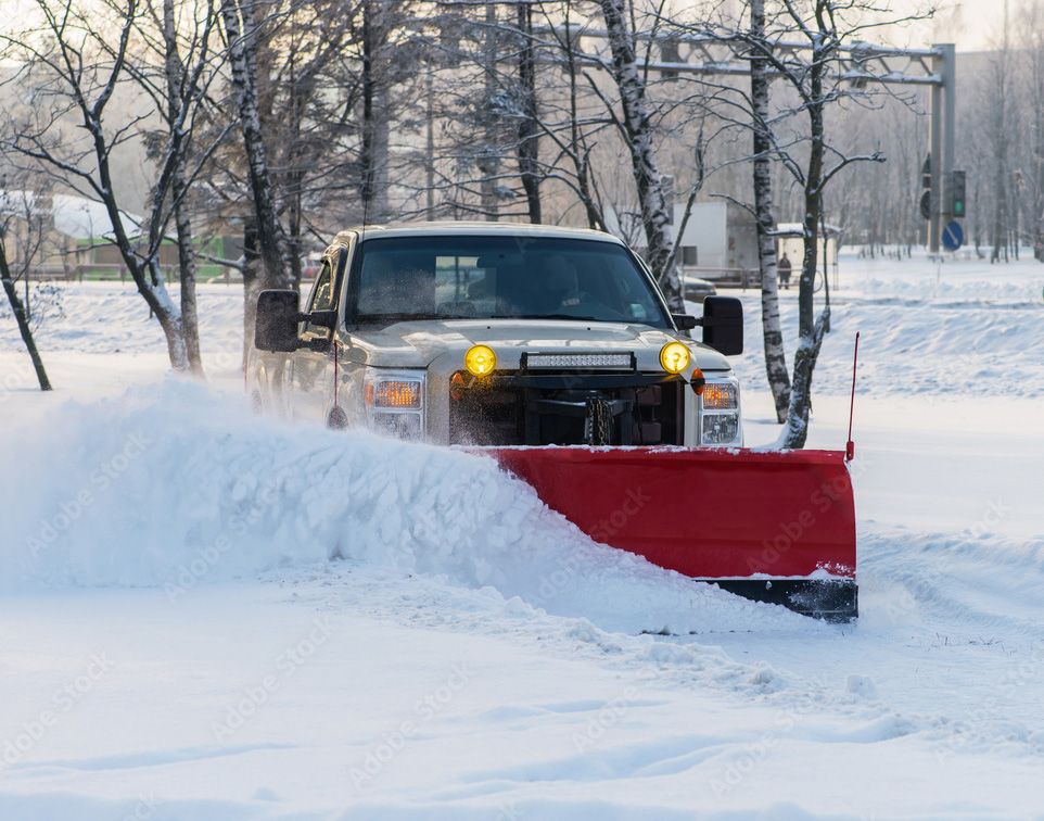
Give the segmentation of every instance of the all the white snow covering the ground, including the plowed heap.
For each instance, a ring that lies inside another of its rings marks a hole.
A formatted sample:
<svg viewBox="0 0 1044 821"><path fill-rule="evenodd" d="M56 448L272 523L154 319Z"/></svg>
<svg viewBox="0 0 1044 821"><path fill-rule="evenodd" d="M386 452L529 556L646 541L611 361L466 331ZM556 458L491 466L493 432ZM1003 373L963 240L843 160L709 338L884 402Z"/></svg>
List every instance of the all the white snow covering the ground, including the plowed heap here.
<svg viewBox="0 0 1044 821"><path fill-rule="evenodd" d="M0 312L0 819L1041 813L1044 266L840 285L845 627L594 545L483 458L253 418L235 288L201 289L209 389L127 288L66 289L51 395Z"/></svg>

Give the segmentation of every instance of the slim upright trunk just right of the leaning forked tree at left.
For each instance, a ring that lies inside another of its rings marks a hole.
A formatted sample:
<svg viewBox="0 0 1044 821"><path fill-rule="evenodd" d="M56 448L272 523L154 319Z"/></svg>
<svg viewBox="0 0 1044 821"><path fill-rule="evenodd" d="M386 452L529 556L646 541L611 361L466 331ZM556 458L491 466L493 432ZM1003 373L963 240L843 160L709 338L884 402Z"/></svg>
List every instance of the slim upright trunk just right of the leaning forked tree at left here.
<svg viewBox="0 0 1044 821"><path fill-rule="evenodd" d="M182 97L184 71L178 54L178 39L174 20L174 0L163 0L163 39L165 67L167 75L167 117L171 128L177 127L178 112ZM178 140L178 135L170 135ZM178 159L171 172L170 193L174 198L174 222L178 233L178 267L181 279L181 333L189 368L196 376L203 375L203 358L200 354L200 320L195 300L195 253L192 247L192 223L189 218L186 197L188 185L184 178L184 149L178 148Z"/></svg>

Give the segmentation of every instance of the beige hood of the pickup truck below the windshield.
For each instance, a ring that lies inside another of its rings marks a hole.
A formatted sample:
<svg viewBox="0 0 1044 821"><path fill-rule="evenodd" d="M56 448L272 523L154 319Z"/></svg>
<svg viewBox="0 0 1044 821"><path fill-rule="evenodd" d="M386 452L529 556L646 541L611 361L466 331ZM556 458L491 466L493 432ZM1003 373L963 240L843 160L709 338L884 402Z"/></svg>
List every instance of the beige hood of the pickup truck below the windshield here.
<svg viewBox="0 0 1044 821"><path fill-rule="evenodd" d="M377 367L426 368L436 359L463 354L475 344L489 345L499 366L518 368L526 351L634 352L640 370L660 368L660 349L679 340L692 351L692 364L703 370L728 370L728 361L674 331L628 323L564 319L447 319L396 323L380 330L356 330L346 355Z"/></svg>

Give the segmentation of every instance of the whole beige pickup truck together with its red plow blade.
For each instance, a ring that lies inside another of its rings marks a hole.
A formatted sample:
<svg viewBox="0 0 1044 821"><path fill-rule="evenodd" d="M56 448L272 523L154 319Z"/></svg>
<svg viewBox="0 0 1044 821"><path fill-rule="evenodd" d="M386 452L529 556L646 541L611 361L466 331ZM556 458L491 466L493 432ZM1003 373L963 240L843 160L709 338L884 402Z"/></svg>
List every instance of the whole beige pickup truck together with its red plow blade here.
<svg viewBox="0 0 1044 821"><path fill-rule="evenodd" d="M697 341L690 332L702 329ZM742 303L672 314L607 233L342 231L302 312L257 303L246 382L285 417L495 456L598 542L750 598L857 612L845 454L743 449Z"/></svg>

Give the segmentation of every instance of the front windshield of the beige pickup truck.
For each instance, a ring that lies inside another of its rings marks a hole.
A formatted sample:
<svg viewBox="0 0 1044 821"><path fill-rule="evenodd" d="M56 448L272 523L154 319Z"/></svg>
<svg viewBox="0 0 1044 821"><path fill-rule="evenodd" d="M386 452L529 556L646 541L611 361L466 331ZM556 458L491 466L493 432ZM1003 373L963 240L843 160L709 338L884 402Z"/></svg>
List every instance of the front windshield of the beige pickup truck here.
<svg viewBox="0 0 1044 821"><path fill-rule="evenodd" d="M577 319L669 328L649 276L612 242L491 236L367 239L352 273L358 323Z"/></svg>

